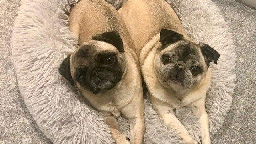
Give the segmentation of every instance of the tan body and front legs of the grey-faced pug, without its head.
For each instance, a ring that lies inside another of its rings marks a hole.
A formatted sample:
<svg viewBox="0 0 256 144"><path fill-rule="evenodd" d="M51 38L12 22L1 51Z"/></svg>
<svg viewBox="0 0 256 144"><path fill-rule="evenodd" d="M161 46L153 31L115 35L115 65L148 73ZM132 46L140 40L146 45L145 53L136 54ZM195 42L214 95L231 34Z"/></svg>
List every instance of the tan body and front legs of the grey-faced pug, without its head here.
<svg viewBox="0 0 256 144"><path fill-rule="evenodd" d="M149 91L150 101L166 125L180 132L184 143L197 144L174 115L174 108L194 106L194 113L202 124L202 144L210 144L208 115L204 103L210 86L211 72L205 74L197 86L189 89L165 88L159 82L154 68L156 50L160 46L160 30L176 31L192 42L174 10L164 0L128 0L118 11L128 28L139 56L142 75Z"/></svg>

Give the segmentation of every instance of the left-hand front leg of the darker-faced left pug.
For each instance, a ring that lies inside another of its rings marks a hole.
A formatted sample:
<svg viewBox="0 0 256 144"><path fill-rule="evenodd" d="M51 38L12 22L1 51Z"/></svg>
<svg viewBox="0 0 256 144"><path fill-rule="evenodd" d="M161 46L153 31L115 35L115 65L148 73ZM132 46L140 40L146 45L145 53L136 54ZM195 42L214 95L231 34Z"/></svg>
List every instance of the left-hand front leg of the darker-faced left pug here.
<svg viewBox="0 0 256 144"><path fill-rule="evenodd" d="M116 144L130 144L126 137L120 132L118 122L114 116L105 114L106 123L110 126L112 138L116 141Z"/></svg>

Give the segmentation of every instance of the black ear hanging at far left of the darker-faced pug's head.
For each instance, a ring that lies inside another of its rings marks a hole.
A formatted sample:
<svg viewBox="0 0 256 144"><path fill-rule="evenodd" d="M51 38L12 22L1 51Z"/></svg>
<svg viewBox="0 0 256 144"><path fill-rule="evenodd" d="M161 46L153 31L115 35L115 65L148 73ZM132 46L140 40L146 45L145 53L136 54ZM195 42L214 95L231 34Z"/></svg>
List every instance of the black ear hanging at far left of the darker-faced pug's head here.
<svg viewBox="0 0 256 144"><path fill-rule="evenodd" d="M59 73L70 82L71 86L74 86L75 84L70 72L70 55L60 64Z"/></svg>

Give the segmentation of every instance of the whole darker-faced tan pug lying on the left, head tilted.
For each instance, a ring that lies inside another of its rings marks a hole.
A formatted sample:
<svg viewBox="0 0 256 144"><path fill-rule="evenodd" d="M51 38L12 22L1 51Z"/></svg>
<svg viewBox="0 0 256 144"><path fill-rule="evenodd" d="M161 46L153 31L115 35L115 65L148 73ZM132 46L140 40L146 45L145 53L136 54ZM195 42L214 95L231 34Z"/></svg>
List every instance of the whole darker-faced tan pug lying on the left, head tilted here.
<svg viewBox="0 0 256 144"><path fill-rule="evenodd" d="M142 144L144 101L134 42L117 10L104 0L81 0L69 16L79 47L60 65L59 73L102 112L116 144ZM129 120L130 141L116 117Z"/></svg>

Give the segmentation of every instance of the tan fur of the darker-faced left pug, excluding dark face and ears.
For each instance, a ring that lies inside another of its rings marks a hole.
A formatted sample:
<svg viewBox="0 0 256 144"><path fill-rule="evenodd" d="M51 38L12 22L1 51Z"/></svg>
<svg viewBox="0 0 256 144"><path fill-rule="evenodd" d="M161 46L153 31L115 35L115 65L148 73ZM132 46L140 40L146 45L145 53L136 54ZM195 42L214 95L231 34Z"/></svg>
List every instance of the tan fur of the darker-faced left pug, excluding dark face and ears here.
<svg viewBox="0 0 256 144"><path fill-rule="evenodd" d="M117 144L143 143L145 133L144 102L139 62L134 42L120 15L114 7L103 0L82 0L71 10L69 21L70 30L78 39L79 44L95 42L99 48L116 52L126 59L126 70L122 80L111 90L95 95L84 90L78 82L76 82L76 86L92 106L104 113L106 123L110 126L112 137ZM122 54L111 44L92 40L96 34L113 30L118 31L123 40L125 52ZM98 49L98 51L103 50ZM74 54L70 58L70 67L74 78L75 62L72 61L73 57ZM115 117L120 116L120 114L129 120L130 142L119 131Z"/></svg>

